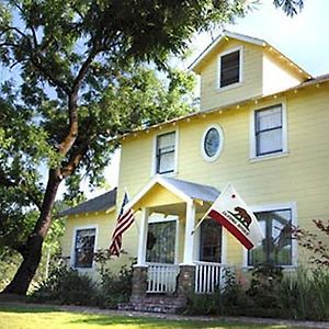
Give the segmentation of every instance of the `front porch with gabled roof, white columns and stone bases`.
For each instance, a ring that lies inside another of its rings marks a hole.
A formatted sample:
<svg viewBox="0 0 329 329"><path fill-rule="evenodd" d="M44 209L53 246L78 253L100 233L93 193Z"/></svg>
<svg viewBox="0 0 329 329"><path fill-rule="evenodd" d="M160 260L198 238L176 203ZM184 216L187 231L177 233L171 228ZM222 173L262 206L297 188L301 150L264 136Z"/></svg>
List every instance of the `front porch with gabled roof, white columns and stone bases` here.
<svg viewBox="0 0 329 329"><path fill-rule="evenodd" d="M191 292L211 294L220 285L222 227L205 220L193 231L218 194L212 186L156 178L131 201L141 212L133 304L180 308Z"/></svg>

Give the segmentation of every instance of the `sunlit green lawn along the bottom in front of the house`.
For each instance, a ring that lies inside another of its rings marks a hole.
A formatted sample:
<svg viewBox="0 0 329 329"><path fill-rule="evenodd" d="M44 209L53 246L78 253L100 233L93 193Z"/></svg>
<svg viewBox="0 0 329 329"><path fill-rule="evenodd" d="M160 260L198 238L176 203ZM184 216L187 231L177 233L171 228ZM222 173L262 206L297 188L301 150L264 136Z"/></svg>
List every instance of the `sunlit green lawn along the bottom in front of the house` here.
<svg viewBox="0 0 329 329"><path fill-rule="evenodd" d="M93 315L61 311L56 307L0 305L0 329L137 329L137 328L217 328L285 329L283 325L247 325L225 321L167 320L147 317ZM296 327L295 327L296 328ZM300 327L302 328L302 327Z"/></svg>

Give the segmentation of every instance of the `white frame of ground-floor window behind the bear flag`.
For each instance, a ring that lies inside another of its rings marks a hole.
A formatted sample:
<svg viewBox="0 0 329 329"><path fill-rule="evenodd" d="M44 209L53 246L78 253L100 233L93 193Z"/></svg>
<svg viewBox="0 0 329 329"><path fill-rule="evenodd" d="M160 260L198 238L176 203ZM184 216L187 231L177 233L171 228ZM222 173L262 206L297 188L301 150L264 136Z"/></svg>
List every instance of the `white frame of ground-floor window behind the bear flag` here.
<svg viewBox="0 0 329 329"><path fill-rule="evenodd" d="M266 205L253 205L250 206L252 213L265 213L265 212L276 212L281 209L291 209L292 212L292 225L297 226L297 203L287 202L279 204L266 204ZM243 248L243 260L242 266L246 269L253 269L252 265L248 264L248 250ZM284 270L294 270L298 264L298 242L296 239L292 239L292 264L291 265L281 265L280 268Z"/></svg>

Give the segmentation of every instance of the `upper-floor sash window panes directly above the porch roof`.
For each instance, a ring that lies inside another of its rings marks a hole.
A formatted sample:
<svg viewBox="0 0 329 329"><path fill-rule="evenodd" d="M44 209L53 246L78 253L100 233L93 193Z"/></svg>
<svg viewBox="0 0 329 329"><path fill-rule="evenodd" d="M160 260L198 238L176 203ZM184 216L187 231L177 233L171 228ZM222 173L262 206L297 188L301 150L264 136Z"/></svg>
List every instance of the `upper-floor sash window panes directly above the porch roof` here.
<svg viewBox="0 0 329 329"><path fill-rule="evenodd" d="M157 136L156 173L174 172L175 132Z"/></svg>

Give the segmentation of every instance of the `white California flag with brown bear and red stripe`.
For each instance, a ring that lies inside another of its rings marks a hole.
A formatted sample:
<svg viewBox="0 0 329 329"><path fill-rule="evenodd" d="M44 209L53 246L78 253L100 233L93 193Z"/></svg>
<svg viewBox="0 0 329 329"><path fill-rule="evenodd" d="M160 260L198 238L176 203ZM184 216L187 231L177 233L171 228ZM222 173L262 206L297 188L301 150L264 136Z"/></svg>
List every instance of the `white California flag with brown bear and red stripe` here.
<svg viewBox="0 0 329 329"><path fill-rule="evenodd" d="M252 249L264 238L256 216L231 184L224 189L207 215L229 230L247 249Z"/></svg>

